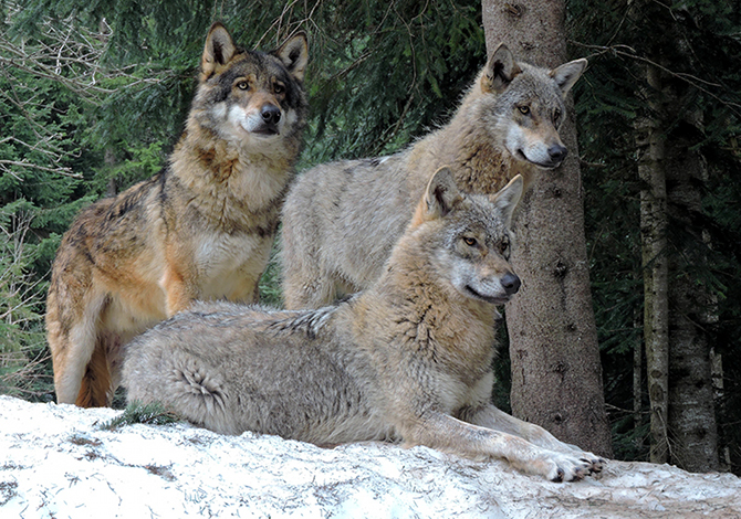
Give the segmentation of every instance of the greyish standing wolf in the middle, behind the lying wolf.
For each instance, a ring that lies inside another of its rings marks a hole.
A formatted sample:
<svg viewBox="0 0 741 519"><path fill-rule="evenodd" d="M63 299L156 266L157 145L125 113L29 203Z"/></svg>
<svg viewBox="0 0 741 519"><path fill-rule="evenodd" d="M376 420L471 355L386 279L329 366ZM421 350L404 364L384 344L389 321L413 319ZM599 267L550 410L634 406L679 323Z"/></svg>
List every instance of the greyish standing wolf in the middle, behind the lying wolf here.
<svg viewBox="0 0 741 519"><path fill-rule="evenodd" d="M467 192L494 193L515 174L561 165L564 102L586 66L552 71L492 54L450 123L400 153L317 166L283 208L283 295L288 308L317 308L365 288L382 272L430 171L449 166Z"/></svg>

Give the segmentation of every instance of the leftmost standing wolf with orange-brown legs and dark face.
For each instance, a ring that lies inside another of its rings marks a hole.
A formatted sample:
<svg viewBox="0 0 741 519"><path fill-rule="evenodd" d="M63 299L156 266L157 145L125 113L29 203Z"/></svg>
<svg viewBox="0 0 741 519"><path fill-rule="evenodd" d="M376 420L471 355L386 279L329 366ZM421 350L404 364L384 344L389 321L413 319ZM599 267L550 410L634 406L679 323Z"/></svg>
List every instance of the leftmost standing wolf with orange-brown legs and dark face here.
<svg viewBox="0 0 741 519"><path fill-rule="evenodd" d="M194 299L257 299L301 147L306 61L303 33L265 54L211 27L168 165L62 240L46 303L60 403L106 405L121 346Z"/></svg>

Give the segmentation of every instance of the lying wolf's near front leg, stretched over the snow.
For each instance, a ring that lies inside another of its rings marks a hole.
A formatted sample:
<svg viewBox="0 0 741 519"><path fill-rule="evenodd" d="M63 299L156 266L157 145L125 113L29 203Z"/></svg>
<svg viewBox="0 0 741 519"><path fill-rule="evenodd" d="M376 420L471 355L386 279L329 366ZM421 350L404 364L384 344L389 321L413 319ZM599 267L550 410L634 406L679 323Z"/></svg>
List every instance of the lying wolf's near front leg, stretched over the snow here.
<svg viewBox="0 0 741 519"><path fill-rule="evenodd" d="M513 434L473 425L439 412L419 417L404 434L407 445L425 445L472 459L502 458L513 467L551 481L573 481L588 475L591 463L577 453L539 447Z"/></svg>

